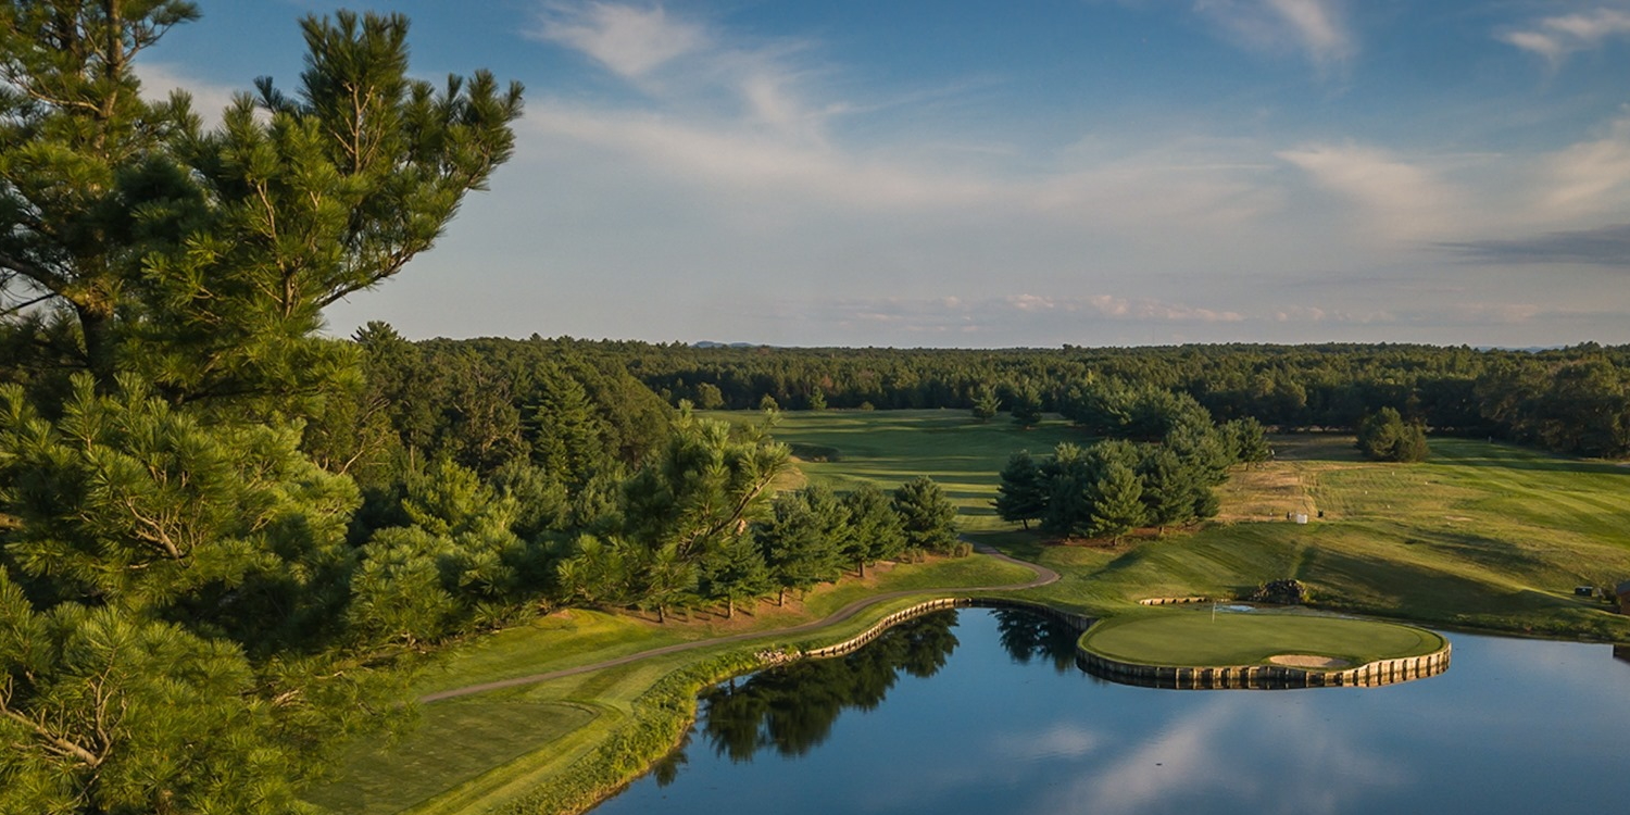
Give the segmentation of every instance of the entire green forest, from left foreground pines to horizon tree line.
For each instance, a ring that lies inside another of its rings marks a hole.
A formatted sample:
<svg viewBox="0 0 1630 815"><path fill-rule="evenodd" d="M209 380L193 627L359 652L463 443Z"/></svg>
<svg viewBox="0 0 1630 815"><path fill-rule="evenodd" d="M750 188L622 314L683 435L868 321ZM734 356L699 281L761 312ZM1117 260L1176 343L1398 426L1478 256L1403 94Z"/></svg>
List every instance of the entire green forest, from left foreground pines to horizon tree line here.
<svg viewBox="0 0 1630 815"><path fill-rule="evenodd" d="M458 637L574 605L730 615L965 551L927 479L778 494L778 411L1060 414L1092 445L1015 461L1046 486L1002 509L1060 535L1205 518L1263 429L1382 411L1630 455L1630 349L1597 346L326 337L510 158L522 88L412 78L406 18L311 16L297 86L205 129L132 67L196 15L0 7L3 812L300 812Z"/></svg>

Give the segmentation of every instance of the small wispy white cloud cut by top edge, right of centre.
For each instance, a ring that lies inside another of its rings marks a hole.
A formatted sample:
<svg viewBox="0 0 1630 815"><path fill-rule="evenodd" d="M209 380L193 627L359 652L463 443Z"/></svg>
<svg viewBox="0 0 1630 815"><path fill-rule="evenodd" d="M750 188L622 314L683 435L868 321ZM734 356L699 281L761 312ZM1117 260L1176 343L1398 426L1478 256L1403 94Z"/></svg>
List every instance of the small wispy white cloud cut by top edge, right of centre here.
<svg viewBox="0 0 1630 815"><path fill-rule="evenodd" d="M1301 51L1320 67L1358 54L1340 0L1195 0L1195 10L1247 47Z"/></svg>

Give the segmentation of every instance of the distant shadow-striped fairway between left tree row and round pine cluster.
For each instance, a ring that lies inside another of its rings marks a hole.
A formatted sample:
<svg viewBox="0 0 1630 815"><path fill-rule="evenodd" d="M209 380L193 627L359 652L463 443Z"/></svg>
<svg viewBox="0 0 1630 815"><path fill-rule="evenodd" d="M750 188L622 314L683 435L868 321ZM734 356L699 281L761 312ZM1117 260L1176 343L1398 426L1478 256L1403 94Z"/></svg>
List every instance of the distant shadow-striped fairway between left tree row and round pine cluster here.
<svg viewBox="0 0 1630 815"><path fill-rule="evenodd" d="M761 419L732 411L707 416ZM789 411L771 435L792 447L805 479L839 492L866 481L893 489L927 476L957 505L962 528L973 531L1007 526L991 500L1011 455L1029 450L1040 460L1060 442L1090 440L1056 416L1025 430L1007 414L980 422L968 411Z"/></svg>

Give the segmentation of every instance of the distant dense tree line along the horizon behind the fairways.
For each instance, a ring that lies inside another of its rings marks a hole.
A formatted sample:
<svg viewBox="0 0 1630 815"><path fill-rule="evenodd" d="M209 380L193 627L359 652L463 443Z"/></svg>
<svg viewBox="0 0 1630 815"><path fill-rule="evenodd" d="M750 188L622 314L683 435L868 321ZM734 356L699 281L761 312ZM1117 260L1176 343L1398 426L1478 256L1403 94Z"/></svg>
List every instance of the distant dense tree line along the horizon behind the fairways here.
<svg viewBox="0 0 1630 815"><path fill-rule="evenodd" d="M623 360L668 401L805 409L1071 412L1086 381L1185 393L1218 421L1345 429L1382 408L1434 434L1493 435L1560 453L1630 455L1630 347L1478 350L1402 344L1133 349L779 349L572 342ZM983 408L981 408L983 406Z"/></svg>

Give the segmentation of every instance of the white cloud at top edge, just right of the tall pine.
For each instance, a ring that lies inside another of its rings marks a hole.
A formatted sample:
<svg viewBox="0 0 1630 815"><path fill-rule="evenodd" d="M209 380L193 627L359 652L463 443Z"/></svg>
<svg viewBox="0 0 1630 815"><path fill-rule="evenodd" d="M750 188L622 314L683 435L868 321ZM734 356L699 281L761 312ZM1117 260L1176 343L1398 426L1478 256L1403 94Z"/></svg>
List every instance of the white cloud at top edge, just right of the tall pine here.
<svg viewBox="0 0 1630 815"><path fill-rule="evenodd" d="M580 51L624 78L709 46L703 26L673 20L660 5L549 3L531 36Z"/></svg>

